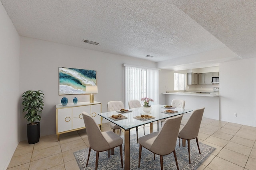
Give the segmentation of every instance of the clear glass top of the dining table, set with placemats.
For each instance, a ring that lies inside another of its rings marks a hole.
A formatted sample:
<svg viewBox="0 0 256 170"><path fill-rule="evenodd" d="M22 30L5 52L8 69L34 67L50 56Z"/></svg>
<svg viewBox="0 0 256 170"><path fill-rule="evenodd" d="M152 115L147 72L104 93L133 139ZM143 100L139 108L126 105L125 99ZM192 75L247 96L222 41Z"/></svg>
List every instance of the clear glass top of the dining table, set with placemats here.
<svg viewBox="0 0 256 170"><path fill-rule="evenodd" d="M138 127L141 125L145 125L147 123L151 123L154 121L158 121L161 119L169 118L172 116L180 115L183 113L188 113L192 111L191 109L182 109L179 107L174 108L165 108L166 105L151 105L151 111L146 113L143 111L143 107L137 107L133 109L129 109L129 112L119 111L109 111L105 113L99 113L100 116L104 117L110 122L115 123L116 125L122 127L124 130L132 129L134 127ZM162 113L166 110L174 110L176 113ZM121 118L110 118L112 115L121 114ZM141 115L148 115L150 118L142 118ZM152 116L152 117L151 117ZM127 117L127 118L126 118Z"/></svg>

